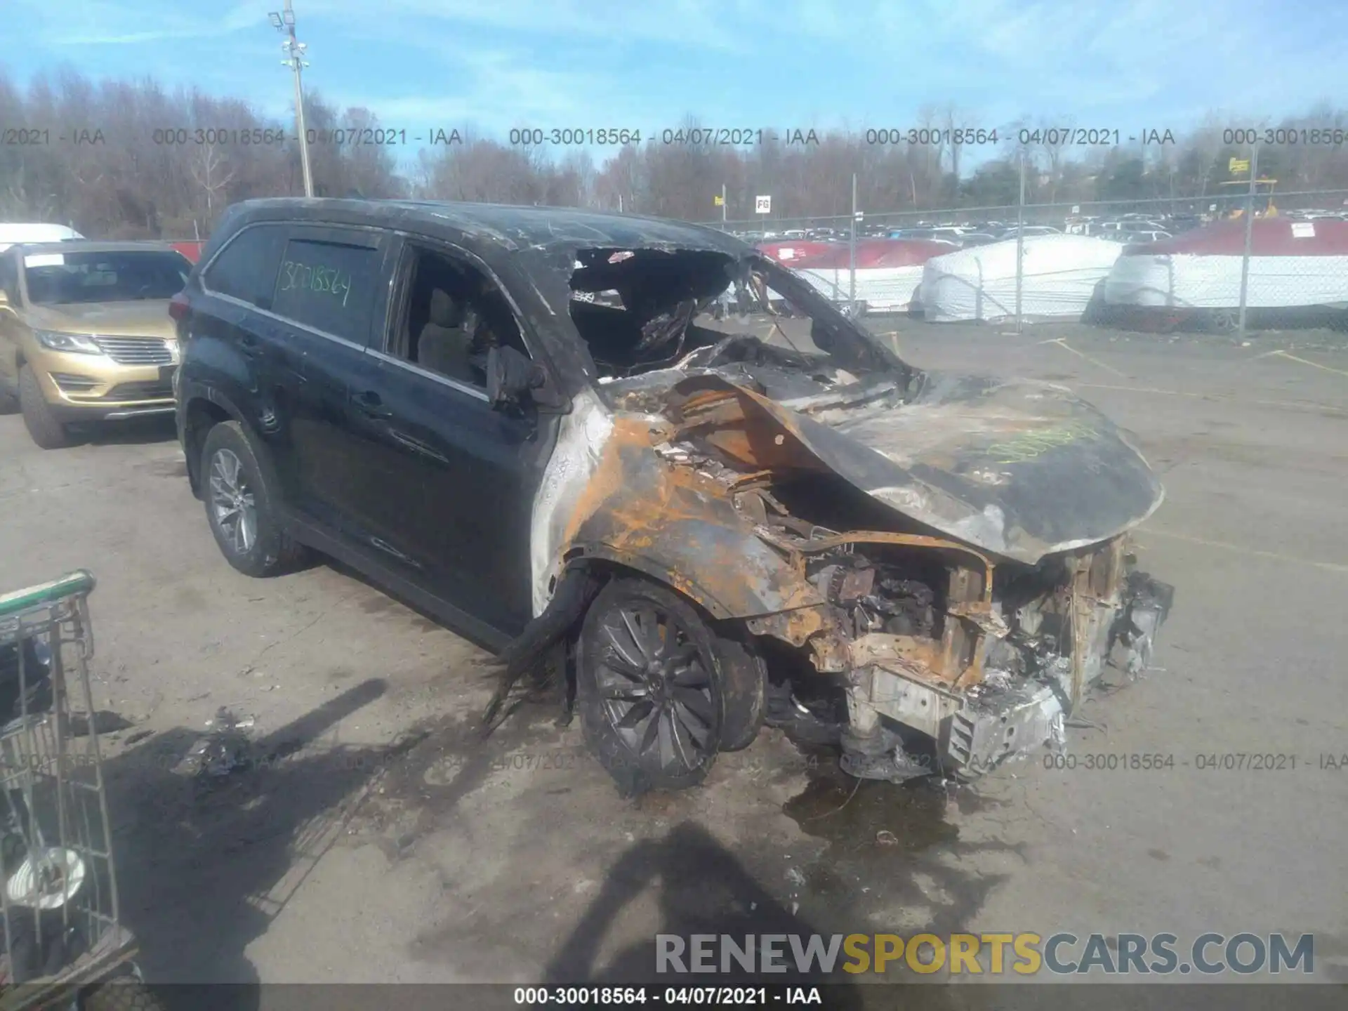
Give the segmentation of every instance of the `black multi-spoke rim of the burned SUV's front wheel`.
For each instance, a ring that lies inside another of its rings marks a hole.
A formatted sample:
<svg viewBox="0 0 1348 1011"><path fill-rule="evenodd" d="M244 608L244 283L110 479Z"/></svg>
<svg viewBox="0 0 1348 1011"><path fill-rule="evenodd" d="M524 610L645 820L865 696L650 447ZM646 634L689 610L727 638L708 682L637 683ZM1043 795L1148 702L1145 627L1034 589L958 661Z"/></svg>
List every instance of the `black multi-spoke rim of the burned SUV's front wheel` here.
<svg viewBox="0 0 1348 1011"><path fill-rule="evenodd" d="M609 608L599 621L596 681L604 716L642 759L696 770L716 754L716 697L687 630L646 601Z"/></svg>

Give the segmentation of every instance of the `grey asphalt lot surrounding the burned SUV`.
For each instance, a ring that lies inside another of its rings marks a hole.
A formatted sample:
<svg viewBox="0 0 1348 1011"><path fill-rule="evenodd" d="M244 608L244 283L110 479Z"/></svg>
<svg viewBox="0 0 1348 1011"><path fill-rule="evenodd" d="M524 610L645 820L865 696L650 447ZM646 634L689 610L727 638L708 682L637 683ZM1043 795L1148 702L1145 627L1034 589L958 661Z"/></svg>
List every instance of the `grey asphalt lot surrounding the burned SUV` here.
<svg viewBox="0 0 1348 1011"><path fill-rule="evenodd" d="M1177 605L1158 669L1092 700L1069 752L1173 767L853 793L764 731L700 790L623 801L551 705L479 740L484 654L452 632L328 566L236 574L170 429L44 453L4 417L4 586L100 581L147 975L631 980L658 931L919 929L1314 931L1317 976L1348 973L1348 768L1321 767L1348 752L1343 338L872 325L923 367L1073 386L1136 434L1167 488L1142 558ZM175 770L221 706L275 760L204 789ZM1200 768L1225 754L1295 767Z"/></svg>

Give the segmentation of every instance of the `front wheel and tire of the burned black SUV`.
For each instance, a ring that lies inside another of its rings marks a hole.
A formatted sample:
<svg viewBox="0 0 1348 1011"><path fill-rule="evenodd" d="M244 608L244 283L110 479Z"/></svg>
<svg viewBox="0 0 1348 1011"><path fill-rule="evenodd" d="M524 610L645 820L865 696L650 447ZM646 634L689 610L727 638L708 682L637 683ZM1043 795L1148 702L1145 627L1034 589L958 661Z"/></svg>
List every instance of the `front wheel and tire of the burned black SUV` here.
<svg viewBox="0 0 1348 1011"><path fill-rule="evenodd" d="M725 723L717 639L673 590L613 580L581 625L576 701L585 743L620 793L697 786Z"/></svg>

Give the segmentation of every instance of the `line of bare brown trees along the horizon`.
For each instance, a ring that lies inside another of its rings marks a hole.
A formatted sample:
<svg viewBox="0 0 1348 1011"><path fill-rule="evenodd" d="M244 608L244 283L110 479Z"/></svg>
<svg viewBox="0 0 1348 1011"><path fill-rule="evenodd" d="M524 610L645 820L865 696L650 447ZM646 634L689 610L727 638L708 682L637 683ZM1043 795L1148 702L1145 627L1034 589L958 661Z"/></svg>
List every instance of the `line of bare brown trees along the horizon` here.
<svg viewBox="0 0 1348 1011"><path fill-rule="evenodd" d="M315 92L306 105L309 127L318 135L310 146L315 186L340 197L414 191L708 221L720 217L714 197L724 186L731 220L752 218L754 197L768 193L779 218L841 221L851 212L853 173L868 213L915 217L1006 200L1008 187L1015 191L1014 159L981 164L967 177L957 131L977 123L953 105L923 106L911 120L927 131L922 140L934 142L929 144L868 144L856 131L830 129L816 131L817 143L764 139L733 148L697 143L696 116L683 123L689 143L647 137L644 144L597 152L508 146L461 131L462 143L437 144L407 159L406 177L399 171L404 139L388 143L371 111L337 108ZM1235 137L1231 128L1260 121L1209 113L1175 146L1123 151L1055 144L1061 137L1049 131L1070 127L1072 120L1037 117L1039 140L1026 146L1026 154L1042 173L1029 182L1035 200L1050 202L1205 198L1227 177L1227 159L1248 151L1228 143ZM70 222L100 237L183 237L195 225L209 233L229 204L302 190L288 121L263 116L237 98L190 89L170 93L150 78L93 82L66 70L39 75L22 90L0 74L0 123L66 137L0 146L0 214L11 220ZM1335 129L1348 129L1348 109L1321 104L1283 117L1277 128L1297 131L1298 139L1302 129L1332 137ZM1277 174L1279 190L1348 187L1348 159L1333 143L1270 147L1260 154L1260 166Z"/></svg>

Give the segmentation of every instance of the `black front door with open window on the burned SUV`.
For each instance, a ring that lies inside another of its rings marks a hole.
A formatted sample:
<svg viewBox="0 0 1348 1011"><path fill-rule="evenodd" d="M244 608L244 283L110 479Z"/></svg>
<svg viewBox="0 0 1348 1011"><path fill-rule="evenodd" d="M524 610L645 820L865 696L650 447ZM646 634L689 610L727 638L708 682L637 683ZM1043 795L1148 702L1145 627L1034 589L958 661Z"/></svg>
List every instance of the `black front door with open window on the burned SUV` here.
<svg viewBox="0 0 1348 1011"><path fill-rule="evenodd" d="M488 403L485 349L528 346L481 264L408 243L395 291L379 368L350 391L365 465L353 520L423 589L514 634L531 617L530 522L557 418Z"/></svg>

